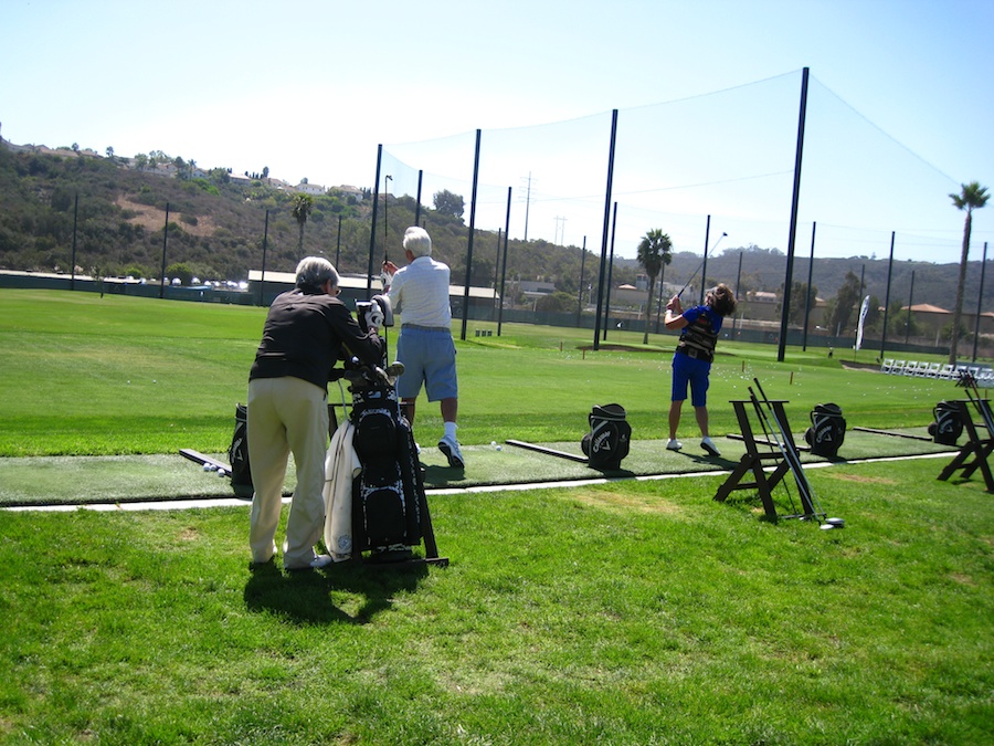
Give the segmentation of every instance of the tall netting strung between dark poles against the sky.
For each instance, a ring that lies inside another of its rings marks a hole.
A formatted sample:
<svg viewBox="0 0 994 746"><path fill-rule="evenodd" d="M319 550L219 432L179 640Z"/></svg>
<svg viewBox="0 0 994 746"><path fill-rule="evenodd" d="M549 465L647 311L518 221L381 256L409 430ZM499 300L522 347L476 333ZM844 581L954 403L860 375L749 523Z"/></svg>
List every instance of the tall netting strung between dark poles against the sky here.
<svg viewBox="0 0 994 746"><path fill-rule="evenodd" d="M465 225L472 219L477 230L495 235L508 227L512 239L578 248L585 240L594 254L610 238L615 255L633 258L653 228L669 234L674 253L702 255L722 232L729 238L721 250L753 245L785 253L801 91L802 71L794 71L696 97L618 109L610 199L612 112L482 130L475 202L475 132L384 145L377 192L381 199L384 192L390 199L416 198L420 189L421 204L429 208L436 193L452 192L464 200ZM805 113L797 256L807 256L812 224L817 223L815 258L886 256L891 231L897 231L896 258L913 248L919 256L927 252L928 261L958 261L962 214L948 197L959 190L955 179L813 75ZM613 203L616 221L607 231L605 212L610 217ZM378 262L383 254L382 212L379 221L373 252ZM426 228L446 230L432 221ZM458 223L452 227L458 229ZM396 255L399 242L393 243L387 249ZM496 267L497 258L493 239L474 245L474 264ZM486 273L474 270L474 276L478 274ZM462 281L454 267L453 282Z"/></svg>

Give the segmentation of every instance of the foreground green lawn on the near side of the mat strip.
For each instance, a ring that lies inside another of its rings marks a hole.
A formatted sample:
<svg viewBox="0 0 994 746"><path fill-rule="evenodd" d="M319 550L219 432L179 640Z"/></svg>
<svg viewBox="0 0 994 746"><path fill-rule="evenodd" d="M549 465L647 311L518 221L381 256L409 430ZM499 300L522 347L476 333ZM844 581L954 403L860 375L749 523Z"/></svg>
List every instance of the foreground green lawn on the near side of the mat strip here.
<svg viewBox="0 0 994 746"><path fill-rule="evenodd" d="M813 470L432 498L445 569L247 569L245 508L7 514L4 744L988 744L991 495Z"/></svg>

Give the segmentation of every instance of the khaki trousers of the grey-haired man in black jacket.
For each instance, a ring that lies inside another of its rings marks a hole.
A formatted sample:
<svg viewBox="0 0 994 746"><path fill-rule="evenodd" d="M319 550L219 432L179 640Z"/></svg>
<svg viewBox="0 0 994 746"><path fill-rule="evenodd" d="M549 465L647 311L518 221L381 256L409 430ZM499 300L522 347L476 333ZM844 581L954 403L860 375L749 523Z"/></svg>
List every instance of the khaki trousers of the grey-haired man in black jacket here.
<svg viewBox="0 0 994 746"><path fill-rule="evenodd" d="M248 464L252 497L248 545L252 561L276 553L276 527L283 506L283 483L290 452L297 471L283 566L308 567L325 522L325 452L328 448L328 403L324 389L293 377L248 381Z"/></svg>

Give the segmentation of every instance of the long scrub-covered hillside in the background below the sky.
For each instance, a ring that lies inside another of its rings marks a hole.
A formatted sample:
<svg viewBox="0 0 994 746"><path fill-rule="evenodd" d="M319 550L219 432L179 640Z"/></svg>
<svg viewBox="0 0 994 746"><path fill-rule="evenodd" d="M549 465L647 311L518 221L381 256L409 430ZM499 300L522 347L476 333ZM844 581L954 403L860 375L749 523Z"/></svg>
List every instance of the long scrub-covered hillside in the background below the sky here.
<svg viewBox="0 0 994 746"><path fill-rule="evenodd" d="M310 197L302 228L294 214L299 192L293 188L272 186L264 178L234 180L224 169L212 169L198 178L190 172L179 170L177 176L167 177L135 168L134 160L113 155L61 156L0 147L0 269L67 273L75 243L77 272L154 279L161 274L165 244L169 267L180 265L203 280L237 281L246 279L250 269L262 267L265 244L268 271L290 272L302 255L322 254L341 272L367 272L372 211L369 191L331 188ZM436 199L434 208L422 206L421 222L432 234L435 255L452 266L453 281L462 283L468 245L464 202L461 196L443 196L446 199ZM395 259L401 253L404 229L415 220L413 198L390 196L389 200L385 228L382 202L379 210L377 231L382 234L377 237L376 270L384 240ZM168 240L163 241L167 210ZM666 230L665 225L646 225L646 231L652 228ZM499 282L501 249L496 233L477 231L470 279L474 285ZM633 254L634 250L617 246L616 253ZM683 286L699 269L700 260L691 252L674 254L664 280ZM508 242L506 277L553 283L557 298L565 305L575 303L581 262L583 285L596 287L599 250L588 250L584 258L579 246L512 239ZM832 300L852 273L863 277L865 293L882 304L888 264L866 256L818 259L812 285L819 297ZM795 258L795 284L806 286L807 267L806 256ZM615 260L612 285L635 284L639 271L635 260ZM738 281L744 292L779 293L784 271L783 251L754 245L729 248L708 258L705 282ZM896 263L891 305L907 304L913 272L914 304L952 308L956 271L955 264ZM972 262L965 288L967 308L974 307L971 298L977 297L980 277L980 262ZM699 287L697 281L694 284ZM994 309L994 303L985 302L983 309Z"/></svg>

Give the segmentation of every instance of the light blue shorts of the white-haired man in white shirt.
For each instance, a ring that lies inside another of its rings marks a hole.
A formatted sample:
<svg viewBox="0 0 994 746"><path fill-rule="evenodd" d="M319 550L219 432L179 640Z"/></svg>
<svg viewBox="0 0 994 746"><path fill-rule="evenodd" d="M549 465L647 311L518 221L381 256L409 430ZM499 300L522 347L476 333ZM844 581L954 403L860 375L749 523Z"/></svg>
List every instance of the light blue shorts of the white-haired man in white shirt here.
<svg viewBox="0 0 994 746"><path fill-rule="evenodd" d="M455 343L448 329L401 327L395 359L404 364L404 372L396 379L401 399L416 399L422 383L429 401L458 398Z"/></svg>

